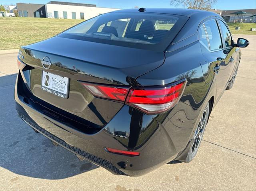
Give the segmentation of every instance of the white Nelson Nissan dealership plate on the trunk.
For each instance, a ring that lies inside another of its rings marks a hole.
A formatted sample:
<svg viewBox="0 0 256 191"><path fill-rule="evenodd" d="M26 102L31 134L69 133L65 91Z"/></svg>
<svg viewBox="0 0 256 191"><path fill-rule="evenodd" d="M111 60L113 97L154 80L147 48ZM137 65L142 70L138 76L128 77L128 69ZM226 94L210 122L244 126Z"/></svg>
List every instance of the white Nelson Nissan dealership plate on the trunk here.
<svg viewBox="0 0 256 191"><path fill-rule="evenodd" d="M41 89L48 93L67 99L69 91L69 79L67 77L62 77L43 71Z"/></svg>

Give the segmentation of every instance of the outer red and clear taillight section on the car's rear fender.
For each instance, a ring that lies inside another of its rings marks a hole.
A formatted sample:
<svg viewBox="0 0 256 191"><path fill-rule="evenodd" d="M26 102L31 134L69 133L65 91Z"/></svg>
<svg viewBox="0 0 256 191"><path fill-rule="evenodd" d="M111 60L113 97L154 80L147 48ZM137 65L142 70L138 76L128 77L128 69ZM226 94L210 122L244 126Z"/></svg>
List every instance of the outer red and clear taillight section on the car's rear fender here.
<svg viewBox="0 0 256 191"><path fill-rule="evenodd" d="M186 81L163 88L132 88L126 104L147 114L156 114L173 108L184 91Z"/></svg>

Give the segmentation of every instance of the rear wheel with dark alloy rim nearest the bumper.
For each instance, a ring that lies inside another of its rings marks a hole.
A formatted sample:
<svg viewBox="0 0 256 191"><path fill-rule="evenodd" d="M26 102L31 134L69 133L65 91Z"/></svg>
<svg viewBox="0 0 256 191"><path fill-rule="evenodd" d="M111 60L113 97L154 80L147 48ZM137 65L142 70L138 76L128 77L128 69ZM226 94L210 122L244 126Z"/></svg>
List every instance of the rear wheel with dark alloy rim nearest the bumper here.
<svg viewBox="0 0 256 191"><path fill-rule="evenodd" d="M210 105L209 102L207 103L206 107L203 110L203 113L199 116L200 117L200 122L198 124L198 127L196 128L193 138L192 138L192 143L190 144L190 148L188 150L188 155L186 157L186 160L184 162L188 163L192 161L197 152L198 148L200 146L200 143L202 141L203 135L204 135L204 130L206 127L206 124L208 122L208 117L209 117L209 112L210 112Z"/></svg>

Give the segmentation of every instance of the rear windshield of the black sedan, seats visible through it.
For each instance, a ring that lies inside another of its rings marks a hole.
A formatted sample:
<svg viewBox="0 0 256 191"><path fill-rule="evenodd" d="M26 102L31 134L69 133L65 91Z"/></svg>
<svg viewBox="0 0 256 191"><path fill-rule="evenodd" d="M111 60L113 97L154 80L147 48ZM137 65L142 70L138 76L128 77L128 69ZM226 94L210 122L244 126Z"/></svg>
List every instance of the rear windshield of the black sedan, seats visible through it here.
<svg viewBox="0 0 256 191"><path fill-rule="evenodd" d="M171 14L112 12L82 22L59 36L163 51L184 22L186 17Z"/></svg>

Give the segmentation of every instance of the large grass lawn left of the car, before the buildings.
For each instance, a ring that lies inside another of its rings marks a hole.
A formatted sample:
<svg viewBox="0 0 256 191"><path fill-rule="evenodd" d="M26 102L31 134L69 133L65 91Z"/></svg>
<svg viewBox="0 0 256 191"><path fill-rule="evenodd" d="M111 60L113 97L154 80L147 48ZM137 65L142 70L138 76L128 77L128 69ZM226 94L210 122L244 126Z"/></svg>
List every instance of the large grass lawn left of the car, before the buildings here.
<svg viewBox="0 0 256 191"><path fill-rule="evenodd" d="M18 49L52 37L84 20L0 17L0 50Z"/></svg>

